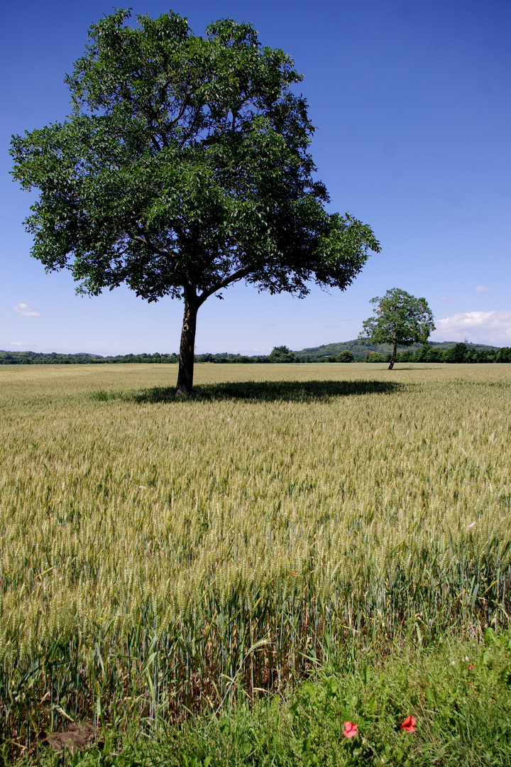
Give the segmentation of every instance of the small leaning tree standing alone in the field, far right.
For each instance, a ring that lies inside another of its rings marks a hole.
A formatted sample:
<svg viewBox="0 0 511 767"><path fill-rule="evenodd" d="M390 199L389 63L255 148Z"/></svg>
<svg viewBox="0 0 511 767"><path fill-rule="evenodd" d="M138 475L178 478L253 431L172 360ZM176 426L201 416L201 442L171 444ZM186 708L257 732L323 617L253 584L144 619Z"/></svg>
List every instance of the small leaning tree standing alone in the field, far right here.
<svg viewBox="0 0 511 767"><path fill-rule="evenodd" d="M398 346L425 344L434 331L433 314L425 298L415 298L404 290L391 288L382 298L372 298L375 316L363 323L359 338L372 344L392 344L392 358L388 370L395 363Z"/></svg>

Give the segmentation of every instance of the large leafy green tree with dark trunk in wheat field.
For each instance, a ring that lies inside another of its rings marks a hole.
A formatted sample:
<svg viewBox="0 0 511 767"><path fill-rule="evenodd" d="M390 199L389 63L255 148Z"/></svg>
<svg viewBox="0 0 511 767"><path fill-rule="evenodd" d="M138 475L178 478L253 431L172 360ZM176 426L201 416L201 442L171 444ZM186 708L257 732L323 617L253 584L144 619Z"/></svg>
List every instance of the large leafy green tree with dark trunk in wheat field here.
<svg viewBox="0 0 511 767"><path fill-rule="evenodd" d="M173 12L127 18L90 27L65 80L70 116L12 138L13 175L40 191L25 224L47 272L69 268L90 295L125 283L183 299L188 393L209 296L241 279L302 298L310 281L344 289L379 245L369 225L326 212L287 54L230 19L202 38Z"/></svg>

